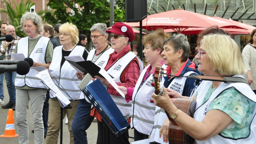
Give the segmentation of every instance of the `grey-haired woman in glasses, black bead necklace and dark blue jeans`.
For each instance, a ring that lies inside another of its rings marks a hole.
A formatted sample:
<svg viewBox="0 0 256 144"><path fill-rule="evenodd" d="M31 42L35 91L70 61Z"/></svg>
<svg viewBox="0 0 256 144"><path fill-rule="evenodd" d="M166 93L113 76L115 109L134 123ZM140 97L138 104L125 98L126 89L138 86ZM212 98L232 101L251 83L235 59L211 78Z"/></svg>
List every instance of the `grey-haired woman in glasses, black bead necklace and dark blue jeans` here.
<svg viewBox="0 0 256 144"><path fill-rule="evenodd" d="M90 31L90 38L96 49L90 51L87 61L92 61L100 68L105 68L108 57L113 53L113 49L107 44L108 35L106 33L107 25L104 23L95 23ZM82 79L85 74L76 72L76 76ZM94 117L90 115L92 104L87 100L85 95L81 93L79 103L76 109L75 117L72 123L72 131L74 142L76 144L87 144L86 130L91 125Z"/></svg>

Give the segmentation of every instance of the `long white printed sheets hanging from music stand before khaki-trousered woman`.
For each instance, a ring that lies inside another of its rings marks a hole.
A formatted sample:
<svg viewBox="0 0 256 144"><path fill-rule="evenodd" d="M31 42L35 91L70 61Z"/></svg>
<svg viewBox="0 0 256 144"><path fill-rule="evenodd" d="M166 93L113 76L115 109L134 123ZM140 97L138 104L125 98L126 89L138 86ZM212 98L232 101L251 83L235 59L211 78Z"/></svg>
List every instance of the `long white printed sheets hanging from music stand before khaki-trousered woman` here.
<svg viewBox="0 0 256 144"><path fill-rule="evenodd" d="M66 96L64 96L59 88L54 84L52 78L50 77L50 74L48 73L48 70L45 69L43 71L40 71L39 74L35 75L36 77L40 78L45 82L45 84L54 91L53 95L56 95L57 98L60 100L60 102L63 104L63 106L67 106L70 101L67 99Z"/></svg>

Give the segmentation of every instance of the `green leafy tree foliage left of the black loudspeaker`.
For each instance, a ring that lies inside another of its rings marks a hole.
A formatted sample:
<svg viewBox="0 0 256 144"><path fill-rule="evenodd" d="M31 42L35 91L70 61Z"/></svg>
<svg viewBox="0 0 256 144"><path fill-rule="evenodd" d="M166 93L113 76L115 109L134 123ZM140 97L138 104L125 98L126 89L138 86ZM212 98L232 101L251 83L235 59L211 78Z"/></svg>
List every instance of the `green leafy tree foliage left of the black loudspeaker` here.
<svg viewBox="0 0 256 144"><path fill-rule="evenodd" d="M83 7L79 9L77 5ZM56 23L72 22L79 29L80 34L90 34L89 29L95 23L106 23L109 26L110 3L107 0L49 0L47 4L55 11L45 14L44 18L52 25ZM70 8L72 12L68 12ZM125 21L125 0L115 0L114 22Z"/></svg>

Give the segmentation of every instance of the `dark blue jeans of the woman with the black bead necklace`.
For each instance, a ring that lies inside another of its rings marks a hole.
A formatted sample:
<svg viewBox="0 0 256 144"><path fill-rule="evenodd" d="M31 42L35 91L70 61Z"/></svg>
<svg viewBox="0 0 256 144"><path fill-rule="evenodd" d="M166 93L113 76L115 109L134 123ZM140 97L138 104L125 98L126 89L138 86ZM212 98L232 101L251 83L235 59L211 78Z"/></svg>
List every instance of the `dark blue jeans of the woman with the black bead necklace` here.
<svg viewBox="0 0 256 144"><path fill-rule="evenodd" d="M72 131L75 144L87 144L86 130L91 126L94 119L91 113L91 103L86 100L80 100L75 112L75 117L72 123Z"/></svg>

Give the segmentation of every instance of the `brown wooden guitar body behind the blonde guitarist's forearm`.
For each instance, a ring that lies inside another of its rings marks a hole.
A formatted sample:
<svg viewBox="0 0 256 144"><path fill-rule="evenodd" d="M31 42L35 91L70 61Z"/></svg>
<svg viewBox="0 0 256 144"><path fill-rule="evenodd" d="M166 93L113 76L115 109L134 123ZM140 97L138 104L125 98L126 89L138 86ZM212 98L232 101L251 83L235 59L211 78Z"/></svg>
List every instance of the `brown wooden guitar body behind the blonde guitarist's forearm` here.
<svg viewBox="0 0 256 144"><path fill-rule="evenodd" d="M179 110L184 112L185 114L193 117L196 107L196 100L191 99L180 99L178 98L174 104ZM170 118L170 115L167 114L170 119L169 125L169 144L192 144L194 143L194 139L189 136L187 133L182 130L177 123Z"/></svg>

